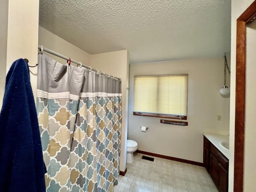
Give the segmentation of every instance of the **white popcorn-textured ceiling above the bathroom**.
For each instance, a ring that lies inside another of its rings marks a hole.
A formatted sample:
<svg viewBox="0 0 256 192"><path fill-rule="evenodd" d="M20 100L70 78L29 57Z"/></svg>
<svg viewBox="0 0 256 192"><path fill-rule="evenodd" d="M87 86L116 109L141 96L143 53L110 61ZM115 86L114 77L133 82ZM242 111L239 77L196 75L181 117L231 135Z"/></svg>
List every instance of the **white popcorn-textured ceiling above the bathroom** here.
<svg viewBox="0 0 256 192"><path fill-rule="evenodd" d="M39 24L90 54L127 49L130 64L218 57L231 0L40 0Z"/></svg>

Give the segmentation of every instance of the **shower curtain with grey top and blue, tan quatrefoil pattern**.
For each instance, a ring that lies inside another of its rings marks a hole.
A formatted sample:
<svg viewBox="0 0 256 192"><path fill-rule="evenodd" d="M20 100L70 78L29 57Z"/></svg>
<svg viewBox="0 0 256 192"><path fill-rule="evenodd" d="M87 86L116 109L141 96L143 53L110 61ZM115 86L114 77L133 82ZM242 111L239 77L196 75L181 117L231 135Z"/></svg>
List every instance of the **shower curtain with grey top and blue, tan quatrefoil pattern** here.
<svg viewBox="0 0 256 192"><path fill-rule="evenodd" d="M119 172L121 81L39 54L37 89L46 192L112 192Z"/></svg>

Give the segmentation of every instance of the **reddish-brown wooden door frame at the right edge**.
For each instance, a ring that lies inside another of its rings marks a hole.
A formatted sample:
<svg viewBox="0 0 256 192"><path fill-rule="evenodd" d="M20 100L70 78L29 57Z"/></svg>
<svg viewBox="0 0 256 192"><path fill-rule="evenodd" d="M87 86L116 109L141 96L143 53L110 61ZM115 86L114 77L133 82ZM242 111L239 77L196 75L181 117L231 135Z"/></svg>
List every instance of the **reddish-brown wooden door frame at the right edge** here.
<svg viewBox="0 0 256 192"><path fill-rule="evenodd" d="M246 24L256 16L256 0L236 20L236 109L234 192L244 187L244 120L246 78Z"/></svg>

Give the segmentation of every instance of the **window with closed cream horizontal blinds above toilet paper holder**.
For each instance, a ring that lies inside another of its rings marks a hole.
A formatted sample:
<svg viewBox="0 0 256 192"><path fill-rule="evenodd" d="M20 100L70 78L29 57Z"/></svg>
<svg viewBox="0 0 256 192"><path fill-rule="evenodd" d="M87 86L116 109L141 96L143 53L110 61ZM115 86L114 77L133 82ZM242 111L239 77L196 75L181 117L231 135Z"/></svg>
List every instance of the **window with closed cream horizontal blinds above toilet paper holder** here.
<svg viewBox="0 0 256 192"><path fill-rule="evenodd" d="M134 76L133 114L187 119L188 74Z"/></svg>

